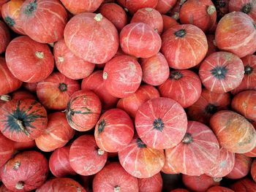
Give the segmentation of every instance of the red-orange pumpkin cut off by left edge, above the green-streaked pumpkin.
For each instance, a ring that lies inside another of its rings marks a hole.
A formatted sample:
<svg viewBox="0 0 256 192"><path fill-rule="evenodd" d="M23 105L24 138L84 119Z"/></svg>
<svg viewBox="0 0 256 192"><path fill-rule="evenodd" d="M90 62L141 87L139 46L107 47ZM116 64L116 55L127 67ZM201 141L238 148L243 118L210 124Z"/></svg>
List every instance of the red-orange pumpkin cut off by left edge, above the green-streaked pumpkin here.
<svg viewBox="0 0 256 192"><path fill-rule="evenodd" d="M8 69L4 58L0 57L0 96L17 90L21 85L22 82Z"/></svg>

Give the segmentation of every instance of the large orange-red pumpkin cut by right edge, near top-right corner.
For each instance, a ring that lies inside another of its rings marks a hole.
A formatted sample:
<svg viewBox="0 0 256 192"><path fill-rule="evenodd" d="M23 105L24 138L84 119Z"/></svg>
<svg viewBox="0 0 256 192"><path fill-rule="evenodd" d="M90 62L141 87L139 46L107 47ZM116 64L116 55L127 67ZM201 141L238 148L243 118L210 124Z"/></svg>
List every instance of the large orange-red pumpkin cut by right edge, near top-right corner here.
<svg viewBox="0 0 256 192"><path fill-rule="evenodd" d="M220 50L234 53L239 58L251 55L256 50L254 21L244 12L230 12L219 21L215 39Z"/></svg>

